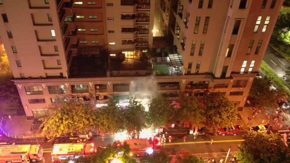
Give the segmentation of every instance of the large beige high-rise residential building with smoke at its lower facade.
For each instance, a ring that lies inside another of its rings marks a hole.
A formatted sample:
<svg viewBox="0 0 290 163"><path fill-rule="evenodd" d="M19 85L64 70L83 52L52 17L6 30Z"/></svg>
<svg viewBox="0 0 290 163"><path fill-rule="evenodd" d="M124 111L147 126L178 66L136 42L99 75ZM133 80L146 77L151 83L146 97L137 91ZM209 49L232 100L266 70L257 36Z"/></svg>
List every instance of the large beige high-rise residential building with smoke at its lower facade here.
<svg viewBox="0 0 290 163"><path fill-rule="evenodd" d="M0 35L28 118L51 103L178 101L208 88L242 107L282 3L0 0Z"/></svg>

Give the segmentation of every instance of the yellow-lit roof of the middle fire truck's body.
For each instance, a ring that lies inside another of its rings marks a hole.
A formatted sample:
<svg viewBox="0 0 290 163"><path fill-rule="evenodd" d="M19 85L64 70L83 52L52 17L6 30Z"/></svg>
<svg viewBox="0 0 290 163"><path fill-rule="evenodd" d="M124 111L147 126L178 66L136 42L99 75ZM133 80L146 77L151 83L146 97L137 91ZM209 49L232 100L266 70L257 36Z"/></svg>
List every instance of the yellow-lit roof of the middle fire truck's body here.
<svg viewBox="0 0 290 163"><path fill-rule="evenodd" d="M84 153L85 143L54 144L52 155L68 153Z"/></svg>

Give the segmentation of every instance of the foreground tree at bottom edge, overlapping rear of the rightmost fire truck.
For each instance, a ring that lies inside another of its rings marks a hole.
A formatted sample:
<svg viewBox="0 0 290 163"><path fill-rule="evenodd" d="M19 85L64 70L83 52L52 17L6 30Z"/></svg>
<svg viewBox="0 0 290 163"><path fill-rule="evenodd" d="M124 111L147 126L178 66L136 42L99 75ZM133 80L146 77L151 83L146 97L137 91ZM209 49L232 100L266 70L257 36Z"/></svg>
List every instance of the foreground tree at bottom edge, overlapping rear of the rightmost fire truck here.
<svg viewBox="0 0 290 163"><path fill-rule="evenodd" d="M80 156L79 158L69 158L63 162L68 163L69 161L74 161L75 163L109 163L109 160L115 159L119 153L122 155L118 156L118 159L123 163L135 163L135 159L129 157L130 151L131 149L126 142L123 144L114 142L112 145L108 144L106 148L98 147L97 152L86 157Z"/></svg>

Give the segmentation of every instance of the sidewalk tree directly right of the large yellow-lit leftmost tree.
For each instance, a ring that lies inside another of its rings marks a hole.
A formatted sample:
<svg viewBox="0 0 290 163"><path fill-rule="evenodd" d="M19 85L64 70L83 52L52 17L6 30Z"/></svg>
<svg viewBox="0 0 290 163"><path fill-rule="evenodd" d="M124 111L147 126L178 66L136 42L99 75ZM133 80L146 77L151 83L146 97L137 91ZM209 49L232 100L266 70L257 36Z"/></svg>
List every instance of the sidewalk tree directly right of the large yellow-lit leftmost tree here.
<svg viewBox="0 0 290 163"><path fill-rule="evenodd" d="M96 109L96 130L102 134L118 133L125 129L125 117L118 100L109 100L106 106Z"/></svg>

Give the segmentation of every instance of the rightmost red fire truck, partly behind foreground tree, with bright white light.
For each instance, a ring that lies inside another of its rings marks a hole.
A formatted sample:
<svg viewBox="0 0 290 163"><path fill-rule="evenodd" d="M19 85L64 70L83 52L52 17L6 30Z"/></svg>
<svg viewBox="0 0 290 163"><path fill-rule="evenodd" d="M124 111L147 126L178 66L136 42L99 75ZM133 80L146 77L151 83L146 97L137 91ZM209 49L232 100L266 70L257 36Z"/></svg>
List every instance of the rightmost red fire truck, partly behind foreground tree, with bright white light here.
<svg viewBox="0 0 290 163"><path fill-rule="evenodd" d="M130 146L131 157L142 157L146 153L152 154L154 150L161 147L161 141L158 137L156 138L145 138L145 139L126 139L122 143L127 142Z"/></svg>

